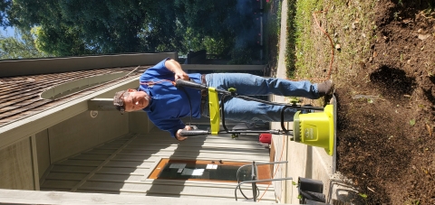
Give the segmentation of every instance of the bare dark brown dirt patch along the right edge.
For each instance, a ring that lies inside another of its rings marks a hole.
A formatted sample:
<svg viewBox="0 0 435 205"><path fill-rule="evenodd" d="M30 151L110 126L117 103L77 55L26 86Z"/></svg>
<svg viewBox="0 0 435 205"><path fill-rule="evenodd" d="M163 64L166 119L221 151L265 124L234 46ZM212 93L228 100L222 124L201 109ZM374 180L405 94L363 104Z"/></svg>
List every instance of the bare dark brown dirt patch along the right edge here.
<svg viewBox="0 0 435 205"><path fill-rule="evenodd" d="M434 8L433 0L379 1L355 78L334 79L337 169L367 196L355 200L435 204Z"/></svg>

